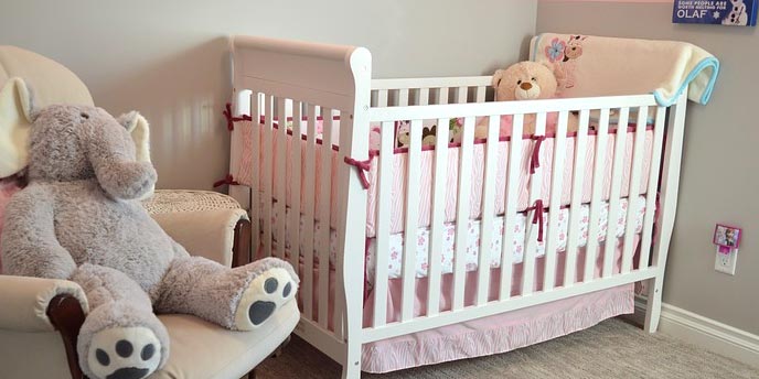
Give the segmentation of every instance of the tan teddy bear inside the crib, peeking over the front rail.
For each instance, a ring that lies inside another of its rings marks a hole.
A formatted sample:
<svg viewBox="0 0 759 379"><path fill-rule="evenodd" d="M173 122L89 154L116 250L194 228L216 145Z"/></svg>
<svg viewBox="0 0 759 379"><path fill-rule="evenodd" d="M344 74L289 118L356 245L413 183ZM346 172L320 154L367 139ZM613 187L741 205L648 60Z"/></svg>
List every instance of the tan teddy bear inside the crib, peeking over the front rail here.
<svg viewBox="0 0 759 379"><path fill-rule="evenodd" d="M558 88L554 72L541 63L531 61L515 63L505 69L496 71L493 74L492 85L495 89L495 101L552 99L556 97ZM534 113L524 115L523 134L535 133L535 118ZM501 137L511 136L512 122L511 115L501 116ZM557 123L557 112L546 115L545 133L555 133ZM567 132L577 131L577 117L569 113ZM478 122L474 136L475 138L488 136L487 119Z"/></svg>

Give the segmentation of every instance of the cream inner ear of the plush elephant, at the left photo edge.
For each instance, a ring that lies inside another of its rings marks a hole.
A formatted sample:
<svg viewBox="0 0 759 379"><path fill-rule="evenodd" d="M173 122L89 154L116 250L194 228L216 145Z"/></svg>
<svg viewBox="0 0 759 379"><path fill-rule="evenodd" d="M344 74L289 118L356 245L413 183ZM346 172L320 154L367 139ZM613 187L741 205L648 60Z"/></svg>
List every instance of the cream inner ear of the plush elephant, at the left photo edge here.
<svg viewBox="0 0 759 379"><path fill-rule="evenodd" d="M18 77L6 82L0 89L0 177L11 176L26 166L33 113L32 94L26 84Z"/></svg>

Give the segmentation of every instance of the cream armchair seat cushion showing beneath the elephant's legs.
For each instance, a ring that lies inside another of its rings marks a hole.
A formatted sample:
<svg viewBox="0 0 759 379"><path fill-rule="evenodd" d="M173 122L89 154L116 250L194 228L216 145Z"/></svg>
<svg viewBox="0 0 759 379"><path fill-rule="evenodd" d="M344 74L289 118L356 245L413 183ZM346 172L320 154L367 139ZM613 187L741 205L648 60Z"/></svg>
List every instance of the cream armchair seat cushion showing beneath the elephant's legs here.
<svg viewBox="0 0 759 379"><path fill-rule="evenodd" d="M161 315L171 337L171 356L150 379L238 379L269 356L300 320L289 302L261 328L232 332L186 315Z"/></svg>

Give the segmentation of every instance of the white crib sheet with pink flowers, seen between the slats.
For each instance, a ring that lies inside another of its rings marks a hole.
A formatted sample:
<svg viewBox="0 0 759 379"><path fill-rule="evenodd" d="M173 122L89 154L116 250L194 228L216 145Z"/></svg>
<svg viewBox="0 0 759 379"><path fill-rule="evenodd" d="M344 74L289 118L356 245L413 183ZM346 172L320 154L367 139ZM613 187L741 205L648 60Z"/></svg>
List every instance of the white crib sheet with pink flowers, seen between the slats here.
<svg viewBox="0 0 759 379"><path fill-rule="evenodd" d="M627 227L627 214L628 214L628 199L623 198L620 201L619 204L619 209L618 212L618 217L616 220L612 221L612 225L616 227L614 235L616 237L622 237L624 235L624 229ZM634 215L635 219L633 220L635 223L635 234L639 234L642 230L643 227L643 216L645 215L645 196L639 196L637 199L633 202L633 207L634 207ZM286 209L287 214L287 219L289 219L290 215L289 208ZM589 228L589 219L590 219L590 206L587 204L584 204L579 208L580 212L580 234L578 238L578 247L585 247L588 242L588 228ZM556 251L565 251L566 246L567 246L567 230L569 226L569 213L570 210L568 208L563 208L559 209L559 215L558 215L558 240L557 240L557 247ZM549 213L545 214L545 217L543 219L544 223L544 237L547 238L549 235L548 231L548 215ZM277 225L277 218L279 215L277 214L276 209L272 210L272 219L271 219L271 225ZM300 235L303 236L304 234L304 220L306 217L301 216L300 219ZM607 230L609 226L609 204L608 202L602 203L601 207L601 213L600 213L600 228L598 231L598 236L596 237L598 241L603 241L606 240L607 236ZM453 257L456 255L455 249L456 249L456 223L448 223L443 226L443 231L442 231L442 251L440 253L440 260L441 260L441 271L442 273L451 273L453 272ZM322 230L322 225L321 223L317 221L316 223L316 235L320 234L320 230ZM499 268L501 266L501 249L503 246L503 228L504 228L504 217L495 217L492 223L492 232L493 232L493 240L490 242L490 246L488 248L488 251L491 251L491 257L489 259L489 264L491 268ZM470 219L467 225L467 250L464 253L464 259L466 259L466 270L467 271L475 271L478 268L479 263L479 243L480 243L480 234L482 231L481 227L481 220L472 220ZM525 238L527 234L531 234L530 238L535 238L537 239L537 227L534 226L532 223L528 221L528 216L525 213L519 213L516 215L516 221L514 225L514 239L512 241L513 243L513 262L514 263L521 263L523 258L524 258L524 250L525 250L525 240L530 240L528 238ZM415 266L415 274L416 278L425 278L427 277L427 270L429 266L429 245L430 245L430 229L429 228L419 228L416 231L416 235L414 236L416 239L415 243L415 256L416 256L416 266ZM272 239L275 243L277 243L276 236L272 236ZM291 246L290 241L292 239L288 235L288 230L286 230L286 242L285 242L285 252L287 256L290 255L291 251ZM403 249L404 249L404 241L405 241L405 235L404 234L394 234L389 236L389 250L387 252L387 260L388 260L388 277L389 279L395 279L395 278L402 278L403 273ZM318 255L317 251L322 248L323 241L320 239L316 239L316 248L314 248L314 257ZM536 242L536 257L543 257L545 255L545 249L546 249L546 240L545 238L543 241L537 241ZM303 251L303 246L300 246L299 251ZM338 234L334 229L330 230L330 263L331 266L334 264L335 258L336 258L336 250L338 250ZM381 252L383 253L383 252ZM370 283L374 282L374 277L376 272L376 256L377 256L377 241L375 238L370 239L367 243L367 249L365 253L365 267L366 267L366 280ZM318 259L317 259L318 261Z"/></svg>

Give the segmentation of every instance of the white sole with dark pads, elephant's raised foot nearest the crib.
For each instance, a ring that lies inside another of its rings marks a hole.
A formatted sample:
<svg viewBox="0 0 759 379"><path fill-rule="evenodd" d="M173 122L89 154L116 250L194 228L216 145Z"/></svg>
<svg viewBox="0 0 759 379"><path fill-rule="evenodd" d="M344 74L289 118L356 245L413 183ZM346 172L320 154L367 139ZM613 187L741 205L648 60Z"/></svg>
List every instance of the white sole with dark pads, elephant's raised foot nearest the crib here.
<svg viewBox="0 0 759 379"><path fill-rule="evenodd" d="M258 274L237 304L235 328L253 331L271 317L277 310L295 297L298 284L282 268L272 268Z"/></svg>

